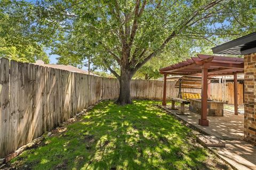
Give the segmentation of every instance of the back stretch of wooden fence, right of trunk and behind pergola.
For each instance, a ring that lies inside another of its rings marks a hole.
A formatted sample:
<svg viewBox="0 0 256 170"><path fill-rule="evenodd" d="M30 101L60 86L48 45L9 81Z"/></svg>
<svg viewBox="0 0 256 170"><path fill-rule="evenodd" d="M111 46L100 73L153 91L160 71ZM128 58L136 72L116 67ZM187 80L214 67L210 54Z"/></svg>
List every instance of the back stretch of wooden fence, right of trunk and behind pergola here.
<svg viewBox="0 0 256 170"><path fill-rule="evenodd" d="M166 82L166 99L178 97L178 88L175 88L174 81ZM162 100L163 98L163 81L157 80L132 80L131 96L133 99L154 99ZM227 101L228 104L234 104L234 83L211 83L211 95L213 100ZM243 104L243 84L238 84L238 104ZM181 89L181 92L200 93L201 89Z"/></svg>

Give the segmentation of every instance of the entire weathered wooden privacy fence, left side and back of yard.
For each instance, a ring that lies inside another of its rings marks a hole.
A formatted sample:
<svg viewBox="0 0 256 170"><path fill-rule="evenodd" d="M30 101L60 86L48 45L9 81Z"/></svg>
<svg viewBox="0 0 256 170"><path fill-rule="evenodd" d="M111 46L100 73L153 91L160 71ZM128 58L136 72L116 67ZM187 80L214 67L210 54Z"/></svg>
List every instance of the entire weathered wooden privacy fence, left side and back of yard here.
<svg viewBox="0 0 256 170"><path fill-rule="evenodd" d="M6 58L1 58L0 62L0 158L52 130L82 109L102 99L116 99L119 95L117 79L9 62ZM175 82L167 81L166 86L167 99L178 96ZM217 94L218 86L212 85L211 95L221 100L222 95ZM231 87L227 89L230 90L227 94L232 94ZM200 89L183 91L201 92ZM162 100L162 95L163 81L131 81L133 99Z"/></svg>

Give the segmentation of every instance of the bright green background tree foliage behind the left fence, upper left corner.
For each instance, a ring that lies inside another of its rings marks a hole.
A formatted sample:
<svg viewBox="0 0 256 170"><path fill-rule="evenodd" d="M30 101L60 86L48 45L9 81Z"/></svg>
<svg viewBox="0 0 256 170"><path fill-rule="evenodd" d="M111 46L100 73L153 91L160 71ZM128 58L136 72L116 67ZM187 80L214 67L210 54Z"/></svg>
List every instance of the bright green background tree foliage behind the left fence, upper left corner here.
<svg viewBox="0 0 256 170"><path fill-rule="evenodd" d="M0 1L0 57L21 62L49 63L37 39L34 5L25 1Z"/></svg>

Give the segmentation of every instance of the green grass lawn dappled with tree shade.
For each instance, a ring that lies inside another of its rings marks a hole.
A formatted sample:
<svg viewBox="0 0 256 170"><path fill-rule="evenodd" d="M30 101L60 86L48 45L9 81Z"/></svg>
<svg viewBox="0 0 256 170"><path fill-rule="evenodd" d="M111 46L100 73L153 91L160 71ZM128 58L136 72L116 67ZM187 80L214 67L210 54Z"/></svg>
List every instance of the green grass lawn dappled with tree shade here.
<svg viewBox="0 0 256 170"><path fill-rule="evenodd" d="M18 169L228 169L154 104L103 101L67 131L13 159Z"/></svg>

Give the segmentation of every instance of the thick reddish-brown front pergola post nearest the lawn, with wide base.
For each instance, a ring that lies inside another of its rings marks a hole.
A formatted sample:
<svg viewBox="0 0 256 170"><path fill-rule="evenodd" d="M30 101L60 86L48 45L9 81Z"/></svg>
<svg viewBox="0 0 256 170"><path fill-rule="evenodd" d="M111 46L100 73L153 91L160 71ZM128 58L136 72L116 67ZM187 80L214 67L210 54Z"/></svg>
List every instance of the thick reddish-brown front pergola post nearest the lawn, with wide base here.
<svg viewBox="0 0 256 170"><path fill-rule="evenodd" d="M207 120L207 87L208 87L208 68L209 64L204 63L202 67L202 101L201 101L201 118L199 118L199 125L209 126Z"/></svg>

